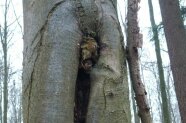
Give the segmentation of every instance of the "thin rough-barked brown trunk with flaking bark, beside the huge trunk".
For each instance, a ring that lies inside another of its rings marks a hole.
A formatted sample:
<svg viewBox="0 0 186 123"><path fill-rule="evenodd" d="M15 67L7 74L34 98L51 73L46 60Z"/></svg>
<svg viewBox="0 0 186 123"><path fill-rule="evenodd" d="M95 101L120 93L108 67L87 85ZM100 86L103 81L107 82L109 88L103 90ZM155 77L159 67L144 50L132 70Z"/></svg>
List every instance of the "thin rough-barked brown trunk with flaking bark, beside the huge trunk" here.
<svg viewBox="0 0 186 123"><path fill-rule="evenodd" d="M140 78L140 68L139 68L139 56L138 48L142 45L142 36L139 34L138 26L138 0L128 1L128 37L127 37L127 47L128 47L128 63L130 69L131 81L133 84L133 89L136 95L136 102L139 109L139 116L142 123L151 123L150 108L147 103L147 96L144 85Z"/></svg>

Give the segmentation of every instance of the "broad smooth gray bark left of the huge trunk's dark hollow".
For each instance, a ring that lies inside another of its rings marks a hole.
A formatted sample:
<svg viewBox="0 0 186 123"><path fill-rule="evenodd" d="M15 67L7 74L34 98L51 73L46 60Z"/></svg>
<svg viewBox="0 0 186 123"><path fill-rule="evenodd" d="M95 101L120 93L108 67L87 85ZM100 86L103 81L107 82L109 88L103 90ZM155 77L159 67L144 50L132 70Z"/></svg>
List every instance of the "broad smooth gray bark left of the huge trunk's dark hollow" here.
<svg viewBox="0 0 186 123"><path fill-rule="evenodd" d="M24 123L72 123L80 32L71 1L23 1Z"/></svg>

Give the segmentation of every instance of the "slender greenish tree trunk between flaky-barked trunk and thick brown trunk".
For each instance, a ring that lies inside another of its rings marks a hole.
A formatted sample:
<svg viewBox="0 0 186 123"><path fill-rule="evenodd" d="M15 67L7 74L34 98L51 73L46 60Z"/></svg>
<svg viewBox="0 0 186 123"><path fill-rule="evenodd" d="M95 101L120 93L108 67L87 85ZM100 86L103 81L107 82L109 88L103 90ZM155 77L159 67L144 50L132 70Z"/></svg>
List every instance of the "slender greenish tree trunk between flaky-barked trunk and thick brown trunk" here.
<svg viewBox="0 0 186 123"><path fill-rule="evenodd" d="M163 70L163 65L162 65L158 30L157 30L157 25L155 24L152 1L148 0L148 4L149 4L150 22L151 22L152 32L153 32L153 40L155 42L156 59L157 59L157 65L158 65L161 99L162 99L162 110L163 110L162 116L164 119L163 122L170 123L170 113L169 113L170 111L169 111L169 105L168 105L168 100L167 100L166 84L165 84L164 70Z"/></svg>

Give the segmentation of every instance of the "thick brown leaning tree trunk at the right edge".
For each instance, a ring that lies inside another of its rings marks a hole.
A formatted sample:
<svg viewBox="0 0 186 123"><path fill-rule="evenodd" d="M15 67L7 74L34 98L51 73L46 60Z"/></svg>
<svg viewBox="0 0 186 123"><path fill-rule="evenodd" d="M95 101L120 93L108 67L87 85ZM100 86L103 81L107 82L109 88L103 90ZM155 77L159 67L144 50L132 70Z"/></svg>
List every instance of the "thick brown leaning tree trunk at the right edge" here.
<svg viewBox="0 0 186 123"><path fill-rule="evenodd" d="M181 119L186 123L186 31L178 0L159 0Z"/></svg>

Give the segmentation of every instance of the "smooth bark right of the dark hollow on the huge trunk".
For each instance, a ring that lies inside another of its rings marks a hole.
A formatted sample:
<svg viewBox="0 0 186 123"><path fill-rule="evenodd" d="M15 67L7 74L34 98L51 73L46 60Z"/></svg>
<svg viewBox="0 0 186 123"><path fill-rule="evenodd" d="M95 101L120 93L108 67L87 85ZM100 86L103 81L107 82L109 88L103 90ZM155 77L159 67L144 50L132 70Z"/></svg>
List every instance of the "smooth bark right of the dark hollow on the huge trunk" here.
<svg viewBox="0 0 186 123"><path fill-rule="evenodd" d="M87 123L129 123L126 63L116 8L110 1L97 2L102 23L99 32L101 49L98 63L91 72Z"/></svg>

